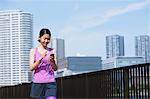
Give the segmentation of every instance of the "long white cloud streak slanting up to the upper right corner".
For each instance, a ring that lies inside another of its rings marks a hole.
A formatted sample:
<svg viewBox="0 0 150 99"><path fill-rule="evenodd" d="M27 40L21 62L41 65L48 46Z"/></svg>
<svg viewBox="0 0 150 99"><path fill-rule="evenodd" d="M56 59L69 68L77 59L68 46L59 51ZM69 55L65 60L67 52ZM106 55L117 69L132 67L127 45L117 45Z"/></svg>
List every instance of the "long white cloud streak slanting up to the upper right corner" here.
<svg viewBox="0 0 150 99"><path fill-rule="evenodd" d="M89 16L85 18L78 18L75 21L70 21L61 31L60 33L72 33L76 31L83 31L85 29L100 26L107 21L109 21L111 18L116 17L121 14L125 14L131 11L140 10L146 6L150 5L150 0L145 0L143 2L139 3L133 3L129 4L126 7L123 8L116 8L116 9L110 9L108 11L105 11L103 15L98 16Z"/></svg>

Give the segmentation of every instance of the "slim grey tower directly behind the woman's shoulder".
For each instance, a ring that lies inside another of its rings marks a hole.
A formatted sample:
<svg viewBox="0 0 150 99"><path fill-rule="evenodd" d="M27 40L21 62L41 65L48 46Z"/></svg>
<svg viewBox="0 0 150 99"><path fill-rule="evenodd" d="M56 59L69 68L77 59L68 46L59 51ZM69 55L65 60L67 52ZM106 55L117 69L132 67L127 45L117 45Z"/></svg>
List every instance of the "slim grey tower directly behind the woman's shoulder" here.
<svg viewBox="0 0 150 99"><path fill-rule="evenodd" d="M56 49L58 69L65 68L65 40L61 38L52 38L49 47Z"/></svg>

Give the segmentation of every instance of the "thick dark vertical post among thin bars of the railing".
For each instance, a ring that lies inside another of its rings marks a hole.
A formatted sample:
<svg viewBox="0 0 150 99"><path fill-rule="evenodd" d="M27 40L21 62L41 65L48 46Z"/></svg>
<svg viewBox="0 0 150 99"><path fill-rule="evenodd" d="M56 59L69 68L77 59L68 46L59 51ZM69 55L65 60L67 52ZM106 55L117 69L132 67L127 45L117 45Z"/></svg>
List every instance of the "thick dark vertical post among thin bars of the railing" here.
<svg viewBox="0 0 150 99"><path fill-rule="evenodd" d="M129 99L129 69L123 70L124 98Z"/></svg>

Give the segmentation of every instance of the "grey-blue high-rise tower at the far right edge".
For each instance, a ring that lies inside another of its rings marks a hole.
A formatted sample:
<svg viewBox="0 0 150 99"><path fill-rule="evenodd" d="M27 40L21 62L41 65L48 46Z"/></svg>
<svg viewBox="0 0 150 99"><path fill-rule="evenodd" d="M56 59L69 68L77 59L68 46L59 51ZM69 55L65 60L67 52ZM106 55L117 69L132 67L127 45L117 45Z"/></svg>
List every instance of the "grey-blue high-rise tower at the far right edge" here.
<svg viewBox="0 0 150 99"><path fill-rule="evenodd" d="M135 55L143 56L145 62L150 62L150 37L148 35L135 37Z"/></svg>

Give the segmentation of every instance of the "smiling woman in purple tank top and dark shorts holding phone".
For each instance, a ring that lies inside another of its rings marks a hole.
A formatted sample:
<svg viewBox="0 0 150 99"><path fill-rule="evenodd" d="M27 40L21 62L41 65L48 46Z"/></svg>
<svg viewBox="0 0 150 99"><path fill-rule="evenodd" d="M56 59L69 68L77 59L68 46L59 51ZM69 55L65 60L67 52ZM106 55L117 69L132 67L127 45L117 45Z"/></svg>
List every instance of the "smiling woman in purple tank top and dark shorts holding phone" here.
<svg viewBox="0 0 150 99"><path fill-rule="evenodd" d="M57 65L55 50L48 48L51 39L49 29L43 28L39 33L39 46L30 50L30 70L34 71L31 97L38 99L56 99L56 81L54 71Z"/></svg>

